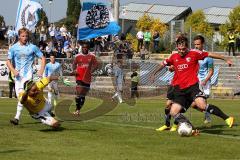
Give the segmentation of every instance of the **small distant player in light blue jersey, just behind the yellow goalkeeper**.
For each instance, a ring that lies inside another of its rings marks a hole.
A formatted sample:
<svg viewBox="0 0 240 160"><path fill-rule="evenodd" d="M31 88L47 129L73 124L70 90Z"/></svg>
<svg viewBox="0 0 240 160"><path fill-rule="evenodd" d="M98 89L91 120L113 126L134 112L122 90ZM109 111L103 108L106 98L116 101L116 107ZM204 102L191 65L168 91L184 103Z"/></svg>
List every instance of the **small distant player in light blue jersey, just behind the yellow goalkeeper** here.
<svg viewBox="0 0 240 160"><path fill-rule="evenodd" d="M60 76L62 77L62 67L61 64L55 61L55 55L50 54L50 62L46 64L45 76ZM59 97L58 82L52 81L48 84L48 101L53 106L57 105L56 99Z"/></svg>

